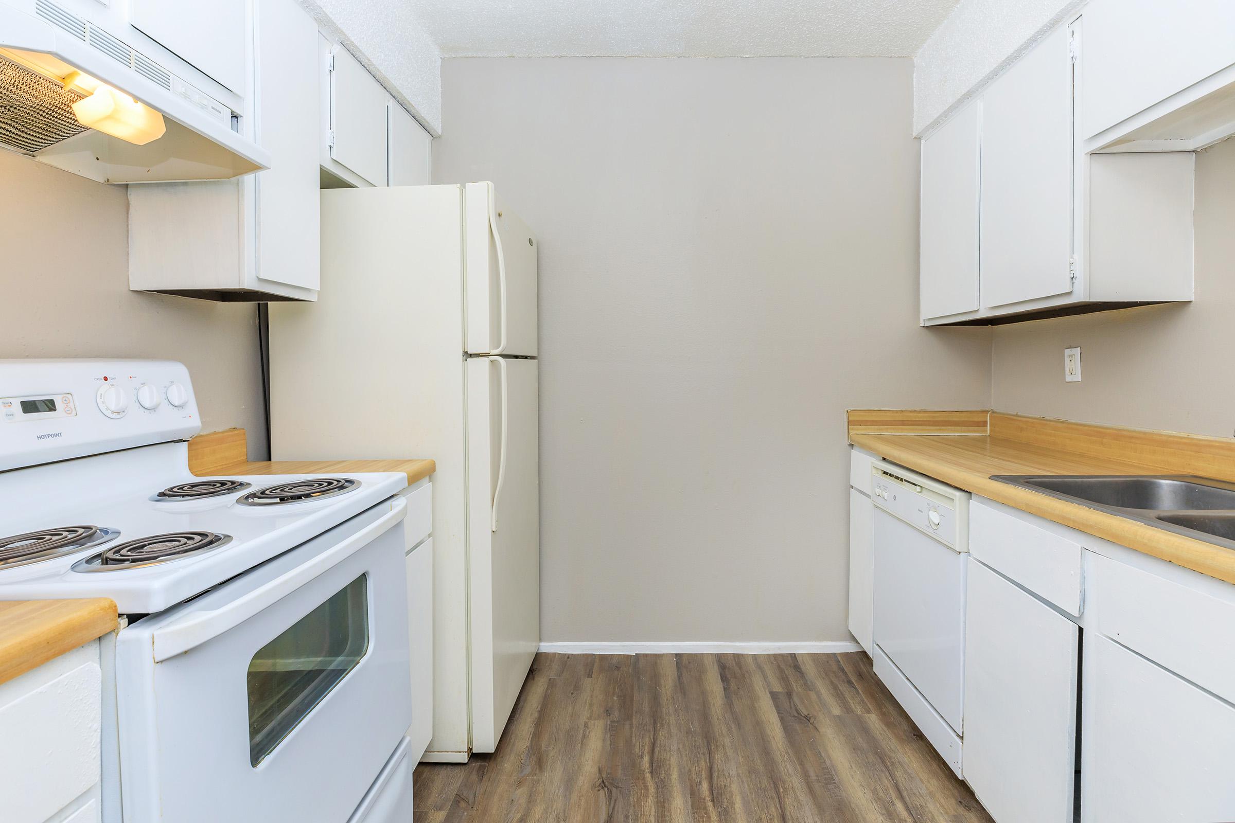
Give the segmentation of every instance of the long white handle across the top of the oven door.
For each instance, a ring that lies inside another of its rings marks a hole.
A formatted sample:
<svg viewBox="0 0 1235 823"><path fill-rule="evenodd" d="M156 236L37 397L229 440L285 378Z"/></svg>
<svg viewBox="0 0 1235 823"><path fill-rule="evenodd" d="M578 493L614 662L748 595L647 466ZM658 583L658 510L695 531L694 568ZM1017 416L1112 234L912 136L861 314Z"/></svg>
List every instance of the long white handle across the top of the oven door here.
<svg viewBox="0 0 1235 823"><path fill-rule="evenodd" d="M291 571L263 584L253 591L237 597L221 608L204 611L193 617L156 629L151 638L154 663L162 663L178 654L195 649L203 643L215 639L224 632L236 628L262 610L273 606L314 577L320 576L345 559L372 543L379 534L388 531L408 515L408 501L396 497L390 502L390 512L369 523L342 543L322 552L316 558L296 566Z"/></svg>

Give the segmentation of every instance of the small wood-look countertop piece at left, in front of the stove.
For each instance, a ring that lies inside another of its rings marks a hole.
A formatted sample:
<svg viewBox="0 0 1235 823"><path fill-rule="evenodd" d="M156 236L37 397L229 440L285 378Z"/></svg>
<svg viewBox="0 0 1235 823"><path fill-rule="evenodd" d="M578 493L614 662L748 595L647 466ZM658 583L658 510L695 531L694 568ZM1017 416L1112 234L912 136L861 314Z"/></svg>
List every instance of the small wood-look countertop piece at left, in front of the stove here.
<svg viewBox="0 0 1235 823"><path fill-rule="evenodd" d="M91 600L0 601L0 684L116 628L116 603Z"/></svg>

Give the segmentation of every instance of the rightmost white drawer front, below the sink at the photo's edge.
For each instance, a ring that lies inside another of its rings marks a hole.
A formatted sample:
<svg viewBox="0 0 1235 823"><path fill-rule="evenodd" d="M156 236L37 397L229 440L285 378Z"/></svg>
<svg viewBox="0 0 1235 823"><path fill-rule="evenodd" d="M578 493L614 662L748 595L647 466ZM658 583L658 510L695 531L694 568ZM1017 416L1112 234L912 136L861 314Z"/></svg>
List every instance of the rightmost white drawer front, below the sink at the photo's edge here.
<svg viewBox="0 0 1235 823"><path fill-rule="evenodd" d="M1089 553L1091 616L1098 632L1181 677L1235 702L1235 587L1198 582L1220 597ZM1198 575L1200 577L1200 575Z"/></svg>

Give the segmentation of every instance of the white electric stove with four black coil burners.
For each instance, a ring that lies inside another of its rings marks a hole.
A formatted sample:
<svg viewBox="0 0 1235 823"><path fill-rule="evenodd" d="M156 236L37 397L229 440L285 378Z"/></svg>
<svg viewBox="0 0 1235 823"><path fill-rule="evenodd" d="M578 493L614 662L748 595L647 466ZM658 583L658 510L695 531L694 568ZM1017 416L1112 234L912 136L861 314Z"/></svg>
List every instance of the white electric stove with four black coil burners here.
<svg viewBox="0 0 1235 823"><path fill-rule="evenodd" d="M195 478L199 421L178 363L0 360L0 600L121 614L101 819L410 819L406 476Z"/></svg>

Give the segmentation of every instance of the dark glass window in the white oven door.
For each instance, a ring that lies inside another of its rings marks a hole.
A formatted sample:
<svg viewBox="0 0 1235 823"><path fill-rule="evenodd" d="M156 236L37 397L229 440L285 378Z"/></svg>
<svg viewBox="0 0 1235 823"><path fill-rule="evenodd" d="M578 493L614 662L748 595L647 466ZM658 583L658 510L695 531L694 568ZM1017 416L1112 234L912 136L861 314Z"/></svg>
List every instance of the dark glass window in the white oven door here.
<svg viewBox="0 0 1235 823"><path fill-rule="evenodd" d="M258 649L248 664L249 764L273 751L368 647L368 585L361 575Z"/></svg>

